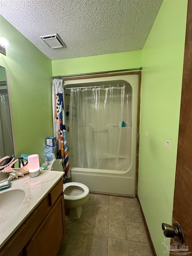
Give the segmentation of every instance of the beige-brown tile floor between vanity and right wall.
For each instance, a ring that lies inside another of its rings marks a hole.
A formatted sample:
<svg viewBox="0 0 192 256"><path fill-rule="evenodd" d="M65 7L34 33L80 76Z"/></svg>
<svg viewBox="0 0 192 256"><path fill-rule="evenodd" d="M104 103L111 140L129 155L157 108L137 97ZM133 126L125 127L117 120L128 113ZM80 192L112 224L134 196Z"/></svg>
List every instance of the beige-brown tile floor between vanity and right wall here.
<svg viewBox="0 0 192 256"><path fill-rule="evenodd" d="M57 256L152 256L137 200L89 194L78 220L66 220Z"/></svg>

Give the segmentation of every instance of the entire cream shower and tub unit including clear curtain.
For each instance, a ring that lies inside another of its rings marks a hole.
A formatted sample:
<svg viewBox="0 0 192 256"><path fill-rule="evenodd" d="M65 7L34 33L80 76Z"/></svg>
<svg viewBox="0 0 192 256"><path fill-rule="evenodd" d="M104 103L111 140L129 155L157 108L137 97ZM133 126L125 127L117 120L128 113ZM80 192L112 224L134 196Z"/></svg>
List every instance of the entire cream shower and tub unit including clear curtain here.
<svg viewBox="0 0 192 256"><path fill-rule="evenodd" d="M135 196L139 75L64 82L72 182Z"/></svg>

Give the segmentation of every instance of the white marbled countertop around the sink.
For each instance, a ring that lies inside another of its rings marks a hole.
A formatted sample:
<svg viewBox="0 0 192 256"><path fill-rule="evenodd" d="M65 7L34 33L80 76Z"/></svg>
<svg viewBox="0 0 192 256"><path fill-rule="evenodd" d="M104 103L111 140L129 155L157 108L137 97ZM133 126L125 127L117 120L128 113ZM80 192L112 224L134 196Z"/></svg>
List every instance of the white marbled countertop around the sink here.
<svg viewBox="0 0 192 256"><path fill-rule="evenodd" d="M62 176L64 176L64 172L42 170L39 176L30 178L28 173L24 177L13 179L10 188L0 191L0 199L1 194L6 191L21 189L25 192L25 198L16 210L11 208L10 203L8 211L6 206L6 217L3 217L5 210L0 205L0 248L22 225Z"/></svg>

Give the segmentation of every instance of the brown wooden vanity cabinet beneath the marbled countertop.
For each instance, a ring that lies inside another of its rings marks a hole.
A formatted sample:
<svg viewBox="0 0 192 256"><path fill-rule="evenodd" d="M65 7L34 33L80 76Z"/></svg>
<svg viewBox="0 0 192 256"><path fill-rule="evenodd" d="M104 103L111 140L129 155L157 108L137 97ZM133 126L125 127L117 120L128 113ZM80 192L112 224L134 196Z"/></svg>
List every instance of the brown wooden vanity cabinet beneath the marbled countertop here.
<svg viewBox="0 0 192 256"><path fill-rule="evenodd" d="M63 180L60 179L0 249L0 256L55 256L64 234Z"/></svg>

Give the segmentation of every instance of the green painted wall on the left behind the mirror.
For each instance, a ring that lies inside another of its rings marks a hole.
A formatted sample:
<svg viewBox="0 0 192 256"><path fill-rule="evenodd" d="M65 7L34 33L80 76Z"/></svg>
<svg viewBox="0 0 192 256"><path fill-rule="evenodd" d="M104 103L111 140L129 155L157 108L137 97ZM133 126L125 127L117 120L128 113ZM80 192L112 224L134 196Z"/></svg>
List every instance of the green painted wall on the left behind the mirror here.
<svg viewBox="0 0 192 256"><path fill-rule="evenodd" d="M10 42L0 65L10 78L16 154L42 154L53 135L52 63L34 44L0 15L0 36Z"/></svg>

